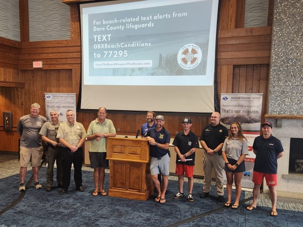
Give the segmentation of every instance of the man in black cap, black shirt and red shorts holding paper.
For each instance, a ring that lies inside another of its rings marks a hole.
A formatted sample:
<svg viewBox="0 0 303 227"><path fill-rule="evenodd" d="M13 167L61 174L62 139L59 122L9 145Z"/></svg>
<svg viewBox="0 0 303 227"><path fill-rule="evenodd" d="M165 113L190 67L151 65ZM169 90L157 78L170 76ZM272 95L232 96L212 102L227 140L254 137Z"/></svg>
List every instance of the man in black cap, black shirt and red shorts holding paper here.
<svg viewBox="0 0 303 227"><path fill-rule="evenodd" d="M194 186L194 165L195 150L199 147L198 137L190 130L192 126L190 118L184 118L182 121L183 130L179 132L173 140L174 151L176 155L176 175L178 175L179 192L173 199L184 197L183 182L184 173L188 178L188 201L194 202L192 195Z"/></svg>

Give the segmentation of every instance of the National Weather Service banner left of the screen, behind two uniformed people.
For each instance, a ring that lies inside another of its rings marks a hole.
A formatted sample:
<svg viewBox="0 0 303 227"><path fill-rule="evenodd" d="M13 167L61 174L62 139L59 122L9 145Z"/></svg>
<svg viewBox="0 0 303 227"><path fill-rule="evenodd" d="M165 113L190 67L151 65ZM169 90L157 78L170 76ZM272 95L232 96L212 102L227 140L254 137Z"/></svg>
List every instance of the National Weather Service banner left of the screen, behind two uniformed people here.
<svg viewBox="0 0 303 227"><path fill-rule="evenodd" d="M66 121L66 111L75 113L76 121L76 94L75 93L44 93L46 119L50 120L50 111L55 110L59 114L59 120Z"/></svg>

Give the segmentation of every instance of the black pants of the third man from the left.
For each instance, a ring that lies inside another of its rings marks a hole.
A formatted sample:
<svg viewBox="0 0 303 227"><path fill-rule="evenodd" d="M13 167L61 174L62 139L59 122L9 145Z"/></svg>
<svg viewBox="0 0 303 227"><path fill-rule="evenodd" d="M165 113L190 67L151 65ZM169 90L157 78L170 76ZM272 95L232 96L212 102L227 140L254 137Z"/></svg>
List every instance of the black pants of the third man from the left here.
<svg viewBox="0 0 303 227"><path fill-rule="evenodd" d="M62 187L68 189L70 184L70 172L71 164L74 164L74 180L76 188L82 186L82 147L79 147L78 150L74 153L71 153L70 150L64 147L62 152L62 165L63 165L63 181Z"/></svg>

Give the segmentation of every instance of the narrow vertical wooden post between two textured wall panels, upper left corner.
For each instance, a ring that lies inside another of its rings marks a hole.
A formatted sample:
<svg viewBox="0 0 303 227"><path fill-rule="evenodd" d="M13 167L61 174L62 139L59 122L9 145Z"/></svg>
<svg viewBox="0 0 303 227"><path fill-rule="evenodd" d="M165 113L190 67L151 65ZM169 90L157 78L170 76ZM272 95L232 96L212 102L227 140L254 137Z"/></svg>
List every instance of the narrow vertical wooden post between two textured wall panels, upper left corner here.
<svg viewBox="0 0 303 227"><path fill-rule="evenodd" d="M29 41L28 0L19 0L20 40Z"/></svg>

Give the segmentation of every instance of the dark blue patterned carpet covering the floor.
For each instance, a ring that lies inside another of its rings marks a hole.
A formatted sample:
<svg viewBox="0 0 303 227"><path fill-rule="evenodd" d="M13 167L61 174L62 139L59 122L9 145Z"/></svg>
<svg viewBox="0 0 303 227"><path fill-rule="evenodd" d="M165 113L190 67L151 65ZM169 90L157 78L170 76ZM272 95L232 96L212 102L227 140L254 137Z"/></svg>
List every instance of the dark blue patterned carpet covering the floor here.
<svg viewBox="0 0 303 227"><path fill-rule="evenodd" d="M30 180L31 168L27 172L26 182ZM108 227L301 227L303 226L303 203L301 201L279 201L278 217L271 217L270 199L268 195L261 194L258 209L246 211L250 204L252 193L242 191L241 204L238 210L225 208L223 203L217 201L216 189L212 186L209 198L200 199L202 180L195 179L193 203L187 199L173 200L178 191L177 177L169 177L167 203L158 204L149 200L134 201L113 197L93 197L93 173L90 167L83 167L85 192L75 190L71 181L70 190L60 196L60 189L51 192L45 191L45 171L40 170L40 182L43 189L35 189L29 184L25 193L18 191L19 162L10 160L0 163L0 227L19 226L108 226ZM73 172L73 171L72 171ZM108 173L108 171L107 171ZM73 179L73 178L71 178ZM56 182L54 183L56 185ZM108 174L106 176L106 190L108 190ZM184 186L187 195L187 183ZM235 193L233 192L233 195ZM18 201L18 199L20 201ZM245 202L245 199L249 200ZM17 203L17 202L18 203ZM14 206L11 206L12 203ZM9 208L7 208L9 207Z"/></svg>

